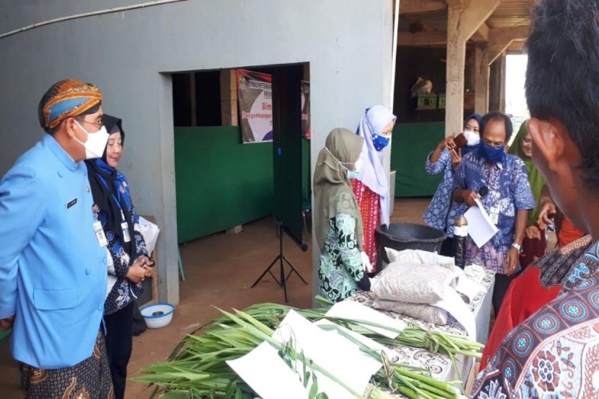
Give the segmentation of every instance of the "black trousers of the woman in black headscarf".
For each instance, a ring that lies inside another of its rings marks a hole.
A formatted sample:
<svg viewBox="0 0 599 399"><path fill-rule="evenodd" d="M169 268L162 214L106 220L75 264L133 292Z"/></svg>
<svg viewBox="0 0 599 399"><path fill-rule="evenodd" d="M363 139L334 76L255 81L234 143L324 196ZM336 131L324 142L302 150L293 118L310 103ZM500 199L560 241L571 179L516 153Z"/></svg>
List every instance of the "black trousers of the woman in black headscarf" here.
<svg viewBox="0 0 599 399"><path fill-rule="evenodd" d="M110 315L104 315L106 354L114 386L114 399L125 397L127 364L133 349L133 302Z"/></svg>

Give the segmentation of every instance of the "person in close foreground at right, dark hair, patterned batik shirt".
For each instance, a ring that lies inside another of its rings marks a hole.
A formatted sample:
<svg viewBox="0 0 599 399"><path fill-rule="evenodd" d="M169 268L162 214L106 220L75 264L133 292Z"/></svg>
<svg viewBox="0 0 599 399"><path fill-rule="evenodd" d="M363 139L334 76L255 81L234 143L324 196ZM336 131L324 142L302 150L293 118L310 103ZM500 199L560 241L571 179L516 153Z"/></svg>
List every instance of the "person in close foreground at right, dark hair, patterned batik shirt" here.
<svg viewBox="0 0 599 399"><path fill-rule="evenodd" d="M512 330L473 398L594 398L599 358L599 2L540 0L528 38L533 160L555 204L592 243L567 290Z"/></svg>

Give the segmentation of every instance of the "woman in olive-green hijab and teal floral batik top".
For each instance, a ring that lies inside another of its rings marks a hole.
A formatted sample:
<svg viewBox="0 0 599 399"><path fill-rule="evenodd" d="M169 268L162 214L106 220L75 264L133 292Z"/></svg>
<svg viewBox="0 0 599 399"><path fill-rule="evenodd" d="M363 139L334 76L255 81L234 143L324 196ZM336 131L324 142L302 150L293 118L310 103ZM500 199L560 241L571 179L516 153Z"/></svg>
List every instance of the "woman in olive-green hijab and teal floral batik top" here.
<svg viewBox="0 0 599 399"><path fill-rule="evenodd" d="M364 139L333 129L314 170L314 230L320 249L318 278L328 299L341 301L357 288L370 290L362 266L362 217L349 179L359 172Z"/></svg>

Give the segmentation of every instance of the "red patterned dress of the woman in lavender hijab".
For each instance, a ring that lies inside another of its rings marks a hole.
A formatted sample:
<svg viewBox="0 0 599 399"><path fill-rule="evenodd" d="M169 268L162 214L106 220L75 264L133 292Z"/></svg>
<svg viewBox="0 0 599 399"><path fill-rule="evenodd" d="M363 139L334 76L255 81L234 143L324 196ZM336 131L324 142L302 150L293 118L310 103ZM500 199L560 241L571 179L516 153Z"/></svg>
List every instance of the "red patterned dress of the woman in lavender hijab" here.
<svg viewBox="0 0 599 399"><path fill-rule="evenodd" d="M358 207L362 214L362 222L364 223L364 243L362 243L362 251L366 252L370 264L376 270L378 260L376 241L374 240L374 230L380 226L380 195L367 187L364 183L357 179L352 179L353 195L356 196Z"/></svg>

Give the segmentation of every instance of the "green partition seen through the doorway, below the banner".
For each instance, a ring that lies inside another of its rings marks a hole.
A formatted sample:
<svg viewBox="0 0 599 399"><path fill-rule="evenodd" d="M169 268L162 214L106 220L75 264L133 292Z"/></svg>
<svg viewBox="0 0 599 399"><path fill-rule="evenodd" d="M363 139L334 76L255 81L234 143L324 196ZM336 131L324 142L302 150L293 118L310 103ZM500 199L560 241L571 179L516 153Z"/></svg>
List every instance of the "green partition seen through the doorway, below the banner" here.
<svg viewBox="0 0 599 399"><path fill-rule="evenodd" d="M176 127L179 242L273 213L273 144L242 144L238 127Z"/></svg>

